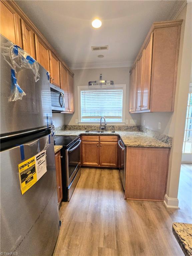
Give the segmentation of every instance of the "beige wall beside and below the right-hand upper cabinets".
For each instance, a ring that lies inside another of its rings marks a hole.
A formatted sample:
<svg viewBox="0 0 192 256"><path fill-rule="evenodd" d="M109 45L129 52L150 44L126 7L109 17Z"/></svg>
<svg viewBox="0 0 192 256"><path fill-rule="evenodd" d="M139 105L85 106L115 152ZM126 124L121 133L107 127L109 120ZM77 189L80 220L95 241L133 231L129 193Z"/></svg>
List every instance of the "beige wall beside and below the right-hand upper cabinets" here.
<svg viewBox="0 0 192 256"><path fill-rule="evenodd" d="M177 195L191 71L191 7L192 3L188 3L176 18L183 19L183 23L181 29L174 112L141 114L141 125L143 125L143 121L145 120L145 127L166 133L173 137L169 161L167 196L169 198L175 198L175 204L178 203ZM158 130L158 122L161 122L161 130Z"/></svg>

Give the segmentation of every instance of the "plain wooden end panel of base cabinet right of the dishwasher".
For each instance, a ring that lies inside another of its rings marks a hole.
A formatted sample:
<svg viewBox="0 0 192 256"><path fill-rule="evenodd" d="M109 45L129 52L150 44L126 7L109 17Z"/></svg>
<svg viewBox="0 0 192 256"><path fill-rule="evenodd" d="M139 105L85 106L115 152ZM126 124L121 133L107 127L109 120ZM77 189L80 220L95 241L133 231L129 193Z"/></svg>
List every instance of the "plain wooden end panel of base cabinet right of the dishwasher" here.
<svg viewBox="0 0 192 256"><path fill-rule="evenodd" d="M126 147L126 199L164 200L169 152L169 148Z"/></svg>

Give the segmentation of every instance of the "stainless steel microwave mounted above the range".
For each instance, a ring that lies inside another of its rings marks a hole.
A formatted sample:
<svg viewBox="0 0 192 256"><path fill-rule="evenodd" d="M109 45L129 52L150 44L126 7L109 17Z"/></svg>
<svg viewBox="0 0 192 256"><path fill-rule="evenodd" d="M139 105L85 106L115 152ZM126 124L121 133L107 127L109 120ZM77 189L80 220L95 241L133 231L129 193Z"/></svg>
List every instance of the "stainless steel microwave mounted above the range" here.
<svg viewBox="0 0 192 256"><path fill-rule="evenodd" d="M59 113L65 111L64 91L53 84L50 84L50 90L52 112Z"/></svg>

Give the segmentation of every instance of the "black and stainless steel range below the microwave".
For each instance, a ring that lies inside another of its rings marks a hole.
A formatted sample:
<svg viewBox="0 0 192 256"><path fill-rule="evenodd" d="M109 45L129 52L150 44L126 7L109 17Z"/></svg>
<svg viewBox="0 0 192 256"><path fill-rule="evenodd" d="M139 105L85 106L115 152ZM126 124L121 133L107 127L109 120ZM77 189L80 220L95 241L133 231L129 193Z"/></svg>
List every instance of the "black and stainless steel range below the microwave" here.
<svg viewBox="0 0 192 256"><path fill-rule="evenodd" d="M54 136L54 144L62 145L61 168L63 201L69 201L81 175L79 136Z"/></svg>

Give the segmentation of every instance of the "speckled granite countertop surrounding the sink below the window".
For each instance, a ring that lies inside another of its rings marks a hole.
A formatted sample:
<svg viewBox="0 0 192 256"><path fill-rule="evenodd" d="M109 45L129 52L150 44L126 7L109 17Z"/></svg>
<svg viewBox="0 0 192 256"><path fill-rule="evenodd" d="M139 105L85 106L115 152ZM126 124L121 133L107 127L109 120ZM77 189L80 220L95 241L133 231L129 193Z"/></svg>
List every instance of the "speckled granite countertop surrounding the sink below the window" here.
<svg viewBox="0 0 192 256"><path fill-rule="evenodd" d="M56 131L55 135L119 135L127 147L160 147L171 148L171 145L155 139L144 132L140 131L117 131L115 133L85 133L85 130L60 130Z"/></svg>

